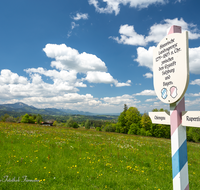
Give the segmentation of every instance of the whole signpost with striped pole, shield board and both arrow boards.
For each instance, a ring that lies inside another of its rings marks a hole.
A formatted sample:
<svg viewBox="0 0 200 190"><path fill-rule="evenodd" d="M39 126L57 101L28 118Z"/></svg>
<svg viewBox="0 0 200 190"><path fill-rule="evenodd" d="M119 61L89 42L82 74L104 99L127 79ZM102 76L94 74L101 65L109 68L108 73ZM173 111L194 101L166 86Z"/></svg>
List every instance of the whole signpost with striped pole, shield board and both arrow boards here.
<svg viewBox="0 0 200 190"><path fill-rule="evenodd" d="M188 32L181 33L179 26L170 28L153 53L155 92L162 102L170 104L170 116L163 112L150 112L149 116L153 123L171 125L174 190L189 190L187 136L186 127L182 124L200 124L200 112L196 115L185 112L184 94L189 83L188 57Z"/></svg>

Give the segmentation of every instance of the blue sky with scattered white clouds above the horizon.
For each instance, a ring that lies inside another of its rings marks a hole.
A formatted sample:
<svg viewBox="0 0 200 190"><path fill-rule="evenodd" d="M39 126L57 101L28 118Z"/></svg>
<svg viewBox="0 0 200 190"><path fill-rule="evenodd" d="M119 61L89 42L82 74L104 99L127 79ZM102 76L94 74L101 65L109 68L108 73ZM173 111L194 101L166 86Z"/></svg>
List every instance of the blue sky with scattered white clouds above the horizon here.
<svg viewBox="0 0 200 190"><path fill-rule="evenodd" d="M186 110L200 110L199 7L198 0L2 0L0 104L169 110L155 94L153 49L178 25L189 33Z"/></svg>

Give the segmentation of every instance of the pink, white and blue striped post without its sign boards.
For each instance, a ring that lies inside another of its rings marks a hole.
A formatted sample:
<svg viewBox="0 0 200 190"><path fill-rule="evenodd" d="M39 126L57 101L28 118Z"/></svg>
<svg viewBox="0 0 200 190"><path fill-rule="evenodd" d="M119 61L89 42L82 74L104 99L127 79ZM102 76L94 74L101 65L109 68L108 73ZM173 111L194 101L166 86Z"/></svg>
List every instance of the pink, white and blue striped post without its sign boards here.
<svg viewBox="0 0 200 190"><path fill-rule="evenodd" d="M168 34L181 33L181 27L172 26ZM173 190L189 190L187 135L182 126L182 112L185 111L185 98L170 104L171 152Z"/></svg>

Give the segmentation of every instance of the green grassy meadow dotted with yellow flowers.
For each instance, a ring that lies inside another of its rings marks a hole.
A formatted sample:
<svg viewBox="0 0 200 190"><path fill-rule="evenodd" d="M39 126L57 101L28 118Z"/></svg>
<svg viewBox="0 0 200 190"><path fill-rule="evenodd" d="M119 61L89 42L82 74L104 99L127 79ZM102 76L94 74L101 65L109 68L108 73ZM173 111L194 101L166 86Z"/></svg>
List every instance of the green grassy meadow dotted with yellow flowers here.
<svg viewBox="0 0 200 190"><path fill-rule="evenodd" d="M190 190L200 144L188 143ZM171 141L85 129L0 123L0 190L172 188Z"/></svg>

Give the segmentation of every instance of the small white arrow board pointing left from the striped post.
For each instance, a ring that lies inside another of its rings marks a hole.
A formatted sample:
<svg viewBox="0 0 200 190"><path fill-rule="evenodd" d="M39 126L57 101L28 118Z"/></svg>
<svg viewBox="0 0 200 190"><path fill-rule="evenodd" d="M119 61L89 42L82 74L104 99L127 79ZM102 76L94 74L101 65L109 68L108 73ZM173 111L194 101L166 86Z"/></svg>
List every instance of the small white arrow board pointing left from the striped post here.
<svg viewBox="0 0 200 190"><path fill-rule="evenodd" d="M149 112L152 123L170 125L170 116L166 112Z"/></svg>

